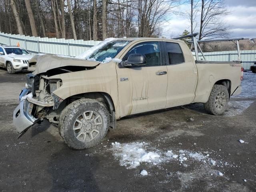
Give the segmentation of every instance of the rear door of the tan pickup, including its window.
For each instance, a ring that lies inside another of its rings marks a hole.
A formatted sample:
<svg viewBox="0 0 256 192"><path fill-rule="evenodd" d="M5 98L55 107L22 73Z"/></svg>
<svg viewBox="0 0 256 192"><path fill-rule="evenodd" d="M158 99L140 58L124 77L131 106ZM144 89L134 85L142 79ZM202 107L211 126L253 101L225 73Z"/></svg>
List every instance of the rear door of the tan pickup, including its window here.
<svg viewBox="0 0 256 192"><path fill-rule="evenodd" d="M168 74L166 108L189 104L194 99L197 82L194 58L183 42L165 41L164 44Z"/></svg>

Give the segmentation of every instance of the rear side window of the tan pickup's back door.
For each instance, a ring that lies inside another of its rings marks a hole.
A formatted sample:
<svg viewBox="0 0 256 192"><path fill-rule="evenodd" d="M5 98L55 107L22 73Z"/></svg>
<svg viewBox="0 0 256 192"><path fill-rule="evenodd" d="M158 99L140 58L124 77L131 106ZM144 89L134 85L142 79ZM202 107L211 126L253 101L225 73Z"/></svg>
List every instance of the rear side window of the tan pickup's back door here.
<svg viewBox="0 0 256 192"><path fill-rule="evenodd" d="M177 64L184 62L184 56L178 43L166 42L166 51L168 53L169 64Z"/></svg>

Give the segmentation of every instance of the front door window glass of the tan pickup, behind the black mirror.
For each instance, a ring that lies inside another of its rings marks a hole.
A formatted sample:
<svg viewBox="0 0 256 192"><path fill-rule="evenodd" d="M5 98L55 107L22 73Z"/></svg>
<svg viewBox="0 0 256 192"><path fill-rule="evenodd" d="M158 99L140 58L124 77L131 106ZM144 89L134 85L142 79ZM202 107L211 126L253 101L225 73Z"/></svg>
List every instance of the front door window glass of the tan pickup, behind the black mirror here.
<svg viewBox="0 0 256 192"><path fill-rule="evenodd" d="M126 61L130 54L142 54L146 57L146 66L161 65L159 42L144 42L134 46L123 58Z"/></svg>

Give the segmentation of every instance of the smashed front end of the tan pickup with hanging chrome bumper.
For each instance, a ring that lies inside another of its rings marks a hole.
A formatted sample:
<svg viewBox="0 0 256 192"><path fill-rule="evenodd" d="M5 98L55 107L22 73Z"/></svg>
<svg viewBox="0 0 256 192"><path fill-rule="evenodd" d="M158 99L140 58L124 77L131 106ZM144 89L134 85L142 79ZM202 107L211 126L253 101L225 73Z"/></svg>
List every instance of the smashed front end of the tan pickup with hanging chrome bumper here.
<svg viewBox="0 0 256 192"><path fill-rule="evenodd" d="M62 80L51 79L45 75L26 75L26 88L20 92L20 104L13 113L13 122L22 136L32 125L48 119L58 124L63 99L56 96L54 90L62 86ZM18 138L19 138L18 137Z"/></svg>

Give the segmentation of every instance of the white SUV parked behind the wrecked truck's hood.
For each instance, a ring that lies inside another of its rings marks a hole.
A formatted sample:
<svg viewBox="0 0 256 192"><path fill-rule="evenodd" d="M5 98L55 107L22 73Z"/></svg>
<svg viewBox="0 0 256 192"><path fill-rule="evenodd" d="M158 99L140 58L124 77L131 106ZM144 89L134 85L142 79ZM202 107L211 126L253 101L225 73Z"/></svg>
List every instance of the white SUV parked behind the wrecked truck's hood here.
<svg viewBox="0 0 256 192"><path fill-rule="evenodd" d="M0 45L0 67L7 69L9 74L26 71L28 61L33 56L23 48L17 46Z"/></svg>

